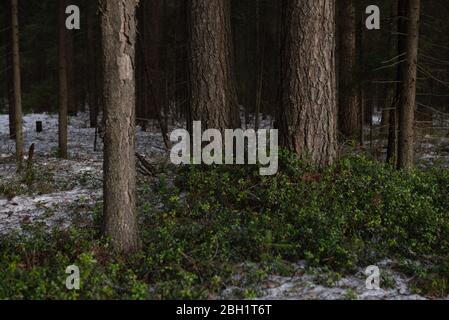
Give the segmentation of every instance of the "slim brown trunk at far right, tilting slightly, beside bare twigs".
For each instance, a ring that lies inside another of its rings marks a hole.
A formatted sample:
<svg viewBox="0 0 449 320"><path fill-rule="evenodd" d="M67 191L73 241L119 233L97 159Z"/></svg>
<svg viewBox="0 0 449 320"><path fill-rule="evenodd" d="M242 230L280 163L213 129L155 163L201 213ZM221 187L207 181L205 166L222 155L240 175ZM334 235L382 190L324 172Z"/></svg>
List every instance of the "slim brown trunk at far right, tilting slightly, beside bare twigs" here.
<svg viewBox="0 0 449 320"><path fill-rule="evenodd" d="M406 170L410 170L414 166L414 123L420 6L420 0L408 0L407 51L400 98L398 144L398 167Z"/></svg>

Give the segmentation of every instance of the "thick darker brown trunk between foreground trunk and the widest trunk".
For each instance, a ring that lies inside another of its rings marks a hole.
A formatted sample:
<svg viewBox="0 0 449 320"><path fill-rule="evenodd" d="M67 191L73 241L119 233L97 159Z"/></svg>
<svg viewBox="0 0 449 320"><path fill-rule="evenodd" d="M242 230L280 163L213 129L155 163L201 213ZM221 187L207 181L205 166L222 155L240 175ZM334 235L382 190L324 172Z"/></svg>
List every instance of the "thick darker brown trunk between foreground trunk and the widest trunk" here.
<svg viewBox="0 0 449 320"><path fill-rule="evenodd" d="M203 128L240 127L229 0L190 0L190 98ZM189 124L191 125L191 124Z"/></svg>

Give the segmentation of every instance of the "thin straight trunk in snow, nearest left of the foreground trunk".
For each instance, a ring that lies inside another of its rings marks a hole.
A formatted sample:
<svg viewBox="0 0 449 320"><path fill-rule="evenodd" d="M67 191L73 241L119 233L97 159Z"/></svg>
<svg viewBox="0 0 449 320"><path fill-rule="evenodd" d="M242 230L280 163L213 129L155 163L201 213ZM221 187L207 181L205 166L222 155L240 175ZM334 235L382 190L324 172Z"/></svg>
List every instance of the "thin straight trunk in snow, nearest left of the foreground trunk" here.
<svg viewBox="0 0 449 320"><path fill-rule="evenodd" d="M67 39L65 26L66 1L59 0L59 150L61 158L67 158L67 111L68 111L68 75L67 75Z"/></svg>

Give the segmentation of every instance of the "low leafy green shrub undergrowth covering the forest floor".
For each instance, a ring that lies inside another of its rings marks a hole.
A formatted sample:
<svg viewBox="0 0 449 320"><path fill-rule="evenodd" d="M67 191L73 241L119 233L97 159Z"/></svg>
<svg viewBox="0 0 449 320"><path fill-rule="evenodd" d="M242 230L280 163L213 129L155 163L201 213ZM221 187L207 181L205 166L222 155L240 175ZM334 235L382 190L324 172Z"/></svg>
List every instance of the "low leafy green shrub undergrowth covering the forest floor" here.
<svg viewBox="0 0 449 320"><path fill-rule="evenodd" d="M272 177L257 167L178 168L139 187L136 255L112 254L100 236L101 204L90 228L24 226L2 236L0 298L214 298L236 273L239 284L258 283L306 260L344 274L386 257L404 262L416 292L443 297L448 193L448 170L397 171L355 154L321 171L283 153ZM65 289L72 264L79 291Z"/></svg>

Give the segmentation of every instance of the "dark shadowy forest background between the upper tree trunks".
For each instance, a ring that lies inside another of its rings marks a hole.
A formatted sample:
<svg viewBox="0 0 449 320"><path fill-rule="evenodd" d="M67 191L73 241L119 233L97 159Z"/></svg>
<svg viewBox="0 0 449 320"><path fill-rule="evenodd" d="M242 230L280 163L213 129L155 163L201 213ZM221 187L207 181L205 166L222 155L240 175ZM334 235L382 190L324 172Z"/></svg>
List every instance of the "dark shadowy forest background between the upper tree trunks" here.
<svg viewBox="0 0 449 320"><path fill-rule="evenodd" d="M80 30L68 33L69 111L101 110L101 41L96 1L74 0L81 9ZM364 28L368 5L381 8L381 29ZM7 112L10 51L5 1L0 28L0 110ZM23 108L26 112L58 110L58 19L53 0L20 2ZM358 1L357 28L360 60L357 81L364 91L366 122L373 110L388 106L394 87L397 59L395 1ZM281 1L232 1L235 79L239 104L249 115L260 108L272 115L279 100ZM138 8L136 80L138 118L156 119L158 114L184 117L189 110L187 81L186 1L141 1ZM418 120L428 120L437 109L449 109L449 3L422 1L420 31ZM145 95L149 89L154 94ZM93 117L95 114L92 115ZM92 125L96 122L92 119Z"/></svg>

